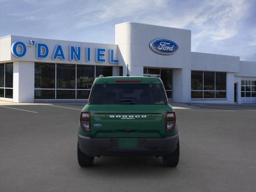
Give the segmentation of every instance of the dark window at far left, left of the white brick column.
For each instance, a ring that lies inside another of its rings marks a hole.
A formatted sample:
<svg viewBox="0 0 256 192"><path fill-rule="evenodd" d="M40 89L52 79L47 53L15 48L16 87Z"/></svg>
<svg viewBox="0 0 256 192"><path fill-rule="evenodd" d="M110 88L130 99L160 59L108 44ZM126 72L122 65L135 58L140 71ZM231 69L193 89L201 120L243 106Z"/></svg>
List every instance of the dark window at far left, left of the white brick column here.
<svg viewBox="0 0 256 192"><path fill-rule="evenodd" d="M11 98L13 95L13 63L0 64L0 97Z"/></svg>

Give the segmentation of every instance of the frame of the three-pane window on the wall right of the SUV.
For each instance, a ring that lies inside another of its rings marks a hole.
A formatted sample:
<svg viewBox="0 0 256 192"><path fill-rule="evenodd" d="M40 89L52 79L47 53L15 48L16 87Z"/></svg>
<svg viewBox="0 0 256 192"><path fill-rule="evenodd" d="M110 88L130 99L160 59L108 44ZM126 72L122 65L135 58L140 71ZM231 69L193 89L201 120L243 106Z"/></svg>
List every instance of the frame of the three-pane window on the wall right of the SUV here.
<svg viewBox="0 0 256 192"><path fill-rule="evenodd" d="M226 90L216 90L216 72L221 72L221 71L201 71L201 70L191 70L192 71L200 71L203 72L202 73L202 90L192 90L191 86L190 86L190 91L191 93L194 91L197 92L202 92L202 98L192 98L192 96L190 95L191 100L226 100L227 99L227 72L222 72L226 74ZM204 72L214 72L214 90L204 90ZM191 84L191 83L190 83ZM204 92L214 92L214 98L205 98L204 97ZM226 97L225 98L216 98L216 92L226 92Z"/></svg>

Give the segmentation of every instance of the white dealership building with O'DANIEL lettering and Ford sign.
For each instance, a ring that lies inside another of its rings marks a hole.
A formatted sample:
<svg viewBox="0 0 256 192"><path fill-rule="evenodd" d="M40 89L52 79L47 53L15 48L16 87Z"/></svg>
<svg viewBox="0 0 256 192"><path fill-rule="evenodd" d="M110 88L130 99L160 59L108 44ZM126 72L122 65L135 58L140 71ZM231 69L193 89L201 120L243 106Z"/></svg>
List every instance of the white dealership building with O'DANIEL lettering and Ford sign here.
<svg viewBox="0 0 256 192"><path fill-rule="evenodd" d="M100 74L125 76L127 70L160 77L173 102L256 102L256 62L191 52L190 30L121 23L115 44L0 38L0 100L84 102Z"/></svg>

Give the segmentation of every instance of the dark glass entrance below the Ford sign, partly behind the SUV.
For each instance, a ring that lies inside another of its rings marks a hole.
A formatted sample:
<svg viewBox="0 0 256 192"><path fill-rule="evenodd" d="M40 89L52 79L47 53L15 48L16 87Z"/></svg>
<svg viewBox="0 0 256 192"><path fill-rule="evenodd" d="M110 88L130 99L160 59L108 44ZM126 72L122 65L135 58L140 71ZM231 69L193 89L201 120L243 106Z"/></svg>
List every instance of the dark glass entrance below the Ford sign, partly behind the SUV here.
<svg viewBox="0 0 256 192"><path fill-rule="evenodd" d="M168 99L172 99L172 70L171 69L158 69L158 68L143 68L143 76L153 77L156 75L160 77L164 88L166 90L166 95Z"/></svg>

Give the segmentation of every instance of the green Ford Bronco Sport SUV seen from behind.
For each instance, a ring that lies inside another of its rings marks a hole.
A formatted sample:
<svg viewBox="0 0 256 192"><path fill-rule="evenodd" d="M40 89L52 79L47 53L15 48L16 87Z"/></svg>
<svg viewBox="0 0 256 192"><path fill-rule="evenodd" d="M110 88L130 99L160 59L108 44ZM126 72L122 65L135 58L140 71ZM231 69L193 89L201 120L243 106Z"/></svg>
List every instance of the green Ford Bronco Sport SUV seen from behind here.
<svg viewBox="0 0 256 192"><path fill-rule="evenodd" d="M80 166L95 156L162 156L177 166L180 147L174 109L154 77L99 77L78 126Z"/></svg>

